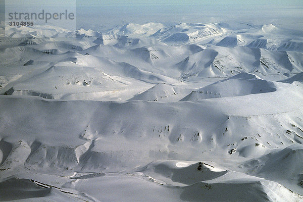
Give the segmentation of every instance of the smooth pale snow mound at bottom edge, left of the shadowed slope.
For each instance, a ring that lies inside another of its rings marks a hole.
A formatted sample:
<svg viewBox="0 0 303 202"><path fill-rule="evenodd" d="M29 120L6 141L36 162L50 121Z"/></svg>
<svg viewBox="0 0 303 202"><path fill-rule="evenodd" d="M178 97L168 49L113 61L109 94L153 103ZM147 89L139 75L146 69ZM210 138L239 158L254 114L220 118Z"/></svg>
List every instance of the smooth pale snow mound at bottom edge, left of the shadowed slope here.
<svg viewBox="0 0 303 202"><path fill-rule="evenodd" d="M77 180L66 184L80 193L87 193L96 201L183 201L182 189L163 186L148 176L132 173Z"/></svg>

